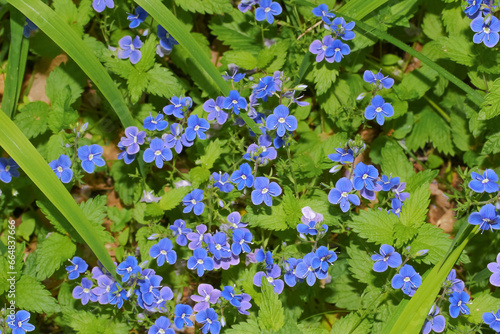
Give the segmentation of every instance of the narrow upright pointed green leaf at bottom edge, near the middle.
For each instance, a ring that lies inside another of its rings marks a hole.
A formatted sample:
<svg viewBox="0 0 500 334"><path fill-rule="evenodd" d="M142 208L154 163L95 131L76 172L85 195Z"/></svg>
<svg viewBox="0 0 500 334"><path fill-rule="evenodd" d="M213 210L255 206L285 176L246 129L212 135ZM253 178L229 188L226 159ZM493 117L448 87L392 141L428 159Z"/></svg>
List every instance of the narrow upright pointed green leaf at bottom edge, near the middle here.
<svg viewBox="0 0 500 334"><path fill-rule="evenodd" d="M278 331L285 324L285 313L279 294L269 284L266 277L262 277L262 300L259 310L259 324L261 328Z"/></svg>

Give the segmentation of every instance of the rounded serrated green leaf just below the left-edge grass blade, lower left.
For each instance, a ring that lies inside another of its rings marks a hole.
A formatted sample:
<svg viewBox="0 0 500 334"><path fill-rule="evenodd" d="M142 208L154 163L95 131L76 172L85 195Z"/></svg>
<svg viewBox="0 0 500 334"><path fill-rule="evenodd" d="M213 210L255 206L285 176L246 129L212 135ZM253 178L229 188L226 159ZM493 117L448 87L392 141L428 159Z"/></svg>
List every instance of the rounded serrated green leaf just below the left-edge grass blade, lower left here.
<svg viewBox="0 0 500 334"><path fill-rule="evenodd" d="M75 255L76 246L68 237L51 233L38 245L36 252L36 278L43 281Z"/></svg>

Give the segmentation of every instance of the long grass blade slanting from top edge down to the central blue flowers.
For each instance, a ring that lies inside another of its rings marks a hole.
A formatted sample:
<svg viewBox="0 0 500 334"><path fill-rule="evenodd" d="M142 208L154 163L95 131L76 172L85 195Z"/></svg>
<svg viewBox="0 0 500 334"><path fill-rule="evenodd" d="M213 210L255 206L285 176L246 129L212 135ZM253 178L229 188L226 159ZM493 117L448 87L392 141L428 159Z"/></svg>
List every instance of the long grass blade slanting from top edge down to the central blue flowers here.
<svg viewBox="0 0 500 334"><path fill-rule="evenodd" d="M196 40L191 34L186 31L182 24L177 20L174 14L167 7L165 7L160 0L134 0L139 6L144 8L159 24L165 28L170 35L172 35L180 45L182 45L187 52L191 55L190 60L200 71L206 72L217 85L218 90L224 95L229 95L229 85L224 81L219 71L208 57L204 56L203 50L200 48ZM216 96L213 96L214 98ZM253 119L248 117L245 113L239 115L245 123L256 134L261 134L259 127Z"/></svg>

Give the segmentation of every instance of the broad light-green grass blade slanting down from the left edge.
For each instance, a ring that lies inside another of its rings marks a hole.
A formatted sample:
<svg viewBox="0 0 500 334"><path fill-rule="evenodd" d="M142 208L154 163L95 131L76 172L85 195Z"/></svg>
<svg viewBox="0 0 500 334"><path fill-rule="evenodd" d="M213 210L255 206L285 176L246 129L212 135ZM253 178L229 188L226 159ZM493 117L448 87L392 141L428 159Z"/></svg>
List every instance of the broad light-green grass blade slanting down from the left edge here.
<svg viewBox="0 0 500 334"><path fill-rule="evenodd" d="M115 274L113 261L104 245L95 237L87 217L48 163L3 112L0 112L0 146L71 223L106 269Z"/></svg>

